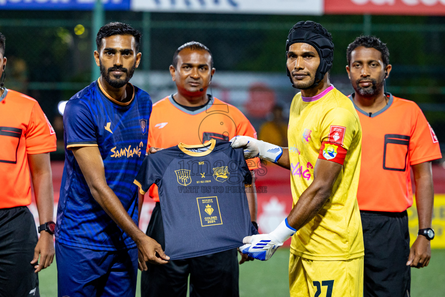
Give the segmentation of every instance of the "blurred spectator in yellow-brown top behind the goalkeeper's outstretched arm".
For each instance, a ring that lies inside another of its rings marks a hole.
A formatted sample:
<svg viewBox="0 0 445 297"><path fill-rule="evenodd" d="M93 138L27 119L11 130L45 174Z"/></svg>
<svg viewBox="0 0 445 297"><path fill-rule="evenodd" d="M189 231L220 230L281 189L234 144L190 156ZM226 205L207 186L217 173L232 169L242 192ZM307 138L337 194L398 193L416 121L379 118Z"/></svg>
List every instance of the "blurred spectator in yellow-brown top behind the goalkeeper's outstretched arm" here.
<svg viewBox="0 0 445 297"><path fill-rule="evenodd" d="M287 147L287 121L283 119L283 107L275 105L272 108L272 115L273 119L259 128L258 139Z"/></svg>

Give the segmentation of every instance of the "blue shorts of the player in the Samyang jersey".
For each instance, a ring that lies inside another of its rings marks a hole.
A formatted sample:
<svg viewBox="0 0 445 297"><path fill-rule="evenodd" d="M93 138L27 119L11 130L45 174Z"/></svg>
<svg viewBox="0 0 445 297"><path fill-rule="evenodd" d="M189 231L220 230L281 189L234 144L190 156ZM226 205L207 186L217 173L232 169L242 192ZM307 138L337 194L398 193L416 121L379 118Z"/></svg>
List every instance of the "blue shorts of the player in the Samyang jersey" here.
<svg viewBox="0 0 445 297"><path fill-rule="evenodd" d="M134 297L138 248L94 251L56 240L58 296Z"/></svg>

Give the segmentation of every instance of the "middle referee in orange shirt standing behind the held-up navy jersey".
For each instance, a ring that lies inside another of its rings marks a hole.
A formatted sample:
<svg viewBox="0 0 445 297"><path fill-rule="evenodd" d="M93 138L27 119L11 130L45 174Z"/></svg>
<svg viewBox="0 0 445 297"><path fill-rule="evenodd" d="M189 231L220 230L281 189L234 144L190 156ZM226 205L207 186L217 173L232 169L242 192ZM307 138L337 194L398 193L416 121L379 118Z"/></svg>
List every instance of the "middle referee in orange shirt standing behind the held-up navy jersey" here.
<svg viewBox="0 0 445 297"><path fill-rule="evenodd" d="M206 91L214 71L212 54L205 45L192 41L176 50L170 65L170 74L178 92L153 104L147 147L166 148L176 146L179 142L193 145L211 139L229 141L236 135L256 138L254 127L241 111L207 95ZM150 148L150 152L152 151L154 149ZM259 168L259 159L248 160L247 165L253 176L253 169ZM255 183L252 183L252 187L248 189L254 187ZM148 193L156 201L156 206L146 234L165 249L156 185L150 187ZM256 193L247 191L246 195L252 223L258 228L255 223ZM139 209L142 201L143 196L139 199ZM245 260L253 258L247 258L247 255L243 254L240 264ZM147 264L143 269L146 271L143 271L141 276L142 297L185 297L189 274L191 297L239 296L236 248L205 256L172 260L164 265Z"/></svg>

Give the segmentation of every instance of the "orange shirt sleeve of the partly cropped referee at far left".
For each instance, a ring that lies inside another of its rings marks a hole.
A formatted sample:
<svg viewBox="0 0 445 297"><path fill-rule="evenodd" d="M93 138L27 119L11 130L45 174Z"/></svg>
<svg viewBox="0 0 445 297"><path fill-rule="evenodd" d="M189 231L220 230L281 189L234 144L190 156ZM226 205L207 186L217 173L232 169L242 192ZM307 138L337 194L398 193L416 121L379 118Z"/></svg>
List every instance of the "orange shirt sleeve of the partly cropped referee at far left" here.
<svg viewBox="0 0 445 297"><path fill-rule="evenodd" d="M56 132L37 102L32 107L25 138L27 154L56 151Z"/></svg>

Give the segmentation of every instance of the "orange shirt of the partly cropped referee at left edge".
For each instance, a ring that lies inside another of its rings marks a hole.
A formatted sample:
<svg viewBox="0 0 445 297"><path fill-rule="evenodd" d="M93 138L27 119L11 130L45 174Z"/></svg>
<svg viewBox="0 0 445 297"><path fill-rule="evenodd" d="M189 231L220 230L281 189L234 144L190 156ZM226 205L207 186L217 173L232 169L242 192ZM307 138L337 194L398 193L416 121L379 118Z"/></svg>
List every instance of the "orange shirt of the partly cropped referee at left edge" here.
<svg viewBox="0 0 445 297"><path fill-rule="evenodd" d="M31 204L28 155L56 150L56 132L31 97L5 89L0 97L0 208Z"/></svg>

